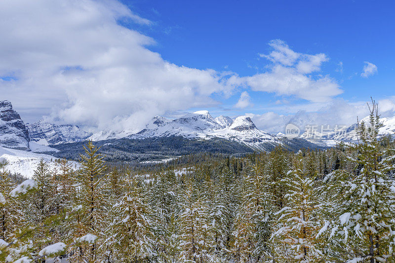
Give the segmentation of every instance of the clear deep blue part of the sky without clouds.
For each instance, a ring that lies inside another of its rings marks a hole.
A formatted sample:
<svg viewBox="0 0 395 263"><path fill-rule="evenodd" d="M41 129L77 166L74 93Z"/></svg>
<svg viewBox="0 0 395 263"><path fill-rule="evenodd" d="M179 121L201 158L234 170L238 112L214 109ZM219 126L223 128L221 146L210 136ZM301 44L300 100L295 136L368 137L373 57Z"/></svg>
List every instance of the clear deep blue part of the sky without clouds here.
<svg viewBox="0 0 395 263"><path fill-rule="evenodd" d="M123 2L154 21L139 30L157 41L150 49L172 63L253 75L268 64L258 54L281 39L296 52L325 53L330 60L322 74L338 81L344 99L394 95L394 1ZM375 64L378 74L360 77L364 61ZM275 99L256 94L255 100Z"/></svg>

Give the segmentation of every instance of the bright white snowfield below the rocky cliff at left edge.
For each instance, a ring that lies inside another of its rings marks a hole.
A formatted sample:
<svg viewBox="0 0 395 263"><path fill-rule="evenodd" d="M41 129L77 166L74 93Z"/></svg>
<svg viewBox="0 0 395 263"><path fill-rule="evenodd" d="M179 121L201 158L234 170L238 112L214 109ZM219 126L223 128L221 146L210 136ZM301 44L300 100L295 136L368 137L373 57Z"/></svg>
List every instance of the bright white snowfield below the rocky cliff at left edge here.
<svg viewBox="0 0 395 263"><path fill-rule="evenodd" d="M11 173L20 173L27 178L33 176L41 158L48 162L50 169L55 166L53 160L56 158L51 155L0 147L0 159L5 159L7 162L7 165L4 167L5 170ZM72 164L74 168L78 168L77 162L72 162Z"/></svg>

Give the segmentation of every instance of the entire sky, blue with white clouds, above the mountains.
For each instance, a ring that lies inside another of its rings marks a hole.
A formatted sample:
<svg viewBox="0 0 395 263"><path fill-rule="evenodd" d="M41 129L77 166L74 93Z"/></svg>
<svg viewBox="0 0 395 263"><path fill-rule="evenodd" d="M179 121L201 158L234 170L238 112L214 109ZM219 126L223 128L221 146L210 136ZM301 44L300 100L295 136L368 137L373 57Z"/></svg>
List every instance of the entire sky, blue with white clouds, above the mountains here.
<svg viewBox="0 0 395 263"><path fill-rule="evenodd" d="M276 133L395 112L394 1L0 1L0 100L25 122L138 131L247 114Z"/></svg>

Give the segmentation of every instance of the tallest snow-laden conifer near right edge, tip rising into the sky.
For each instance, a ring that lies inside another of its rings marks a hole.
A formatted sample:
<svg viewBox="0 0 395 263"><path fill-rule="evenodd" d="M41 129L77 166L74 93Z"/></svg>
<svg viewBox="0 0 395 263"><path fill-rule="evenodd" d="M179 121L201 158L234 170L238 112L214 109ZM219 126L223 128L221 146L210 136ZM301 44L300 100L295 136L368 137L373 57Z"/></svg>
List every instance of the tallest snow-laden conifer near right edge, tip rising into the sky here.
<svg viewBox="0 0 395 263"><path fill-rule="evenodd" d="M395 168L395 154L377 138L382 124L373 100L369 110L368 123L358 123L359 143L352 146L357 156L348 156L355 172L338 170L325 178L337 193L331 235L338 243L334 257L344 255L350 262L394 262L395 182L388 174Z"/></svg>

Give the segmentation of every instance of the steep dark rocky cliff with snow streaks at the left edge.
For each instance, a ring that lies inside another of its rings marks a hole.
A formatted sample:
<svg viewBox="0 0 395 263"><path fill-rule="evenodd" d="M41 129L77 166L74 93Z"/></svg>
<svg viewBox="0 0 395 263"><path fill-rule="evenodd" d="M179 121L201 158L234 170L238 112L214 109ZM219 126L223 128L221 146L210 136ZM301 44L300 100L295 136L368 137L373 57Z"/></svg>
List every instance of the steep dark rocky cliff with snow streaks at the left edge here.
<svg viewBox="0 0 395 263"><path fill-rule="evenodd" d="M9 148L29 148L29 132L11 102L0 101L0 145Z"/></svg>

